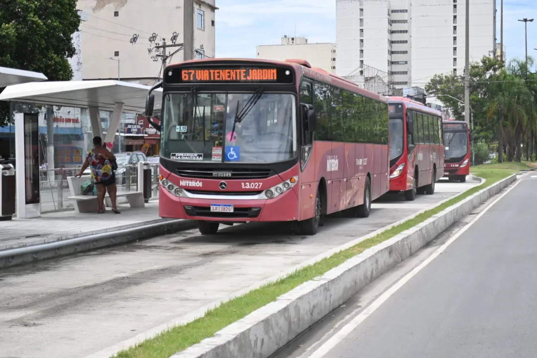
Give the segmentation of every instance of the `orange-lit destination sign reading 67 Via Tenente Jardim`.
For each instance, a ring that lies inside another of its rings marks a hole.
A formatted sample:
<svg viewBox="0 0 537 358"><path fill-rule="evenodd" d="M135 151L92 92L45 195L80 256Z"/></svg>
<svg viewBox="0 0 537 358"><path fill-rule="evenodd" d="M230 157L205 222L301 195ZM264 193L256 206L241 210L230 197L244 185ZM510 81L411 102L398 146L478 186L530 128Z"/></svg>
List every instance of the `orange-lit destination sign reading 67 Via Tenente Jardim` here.
<svg viewBox="0 0 537 358"><path fill-rule="evenodd" d="M166 72L166 83L282 83L292 84L294 72L291 68L274 66L212 65L199 67L170 68Z"/></svg>

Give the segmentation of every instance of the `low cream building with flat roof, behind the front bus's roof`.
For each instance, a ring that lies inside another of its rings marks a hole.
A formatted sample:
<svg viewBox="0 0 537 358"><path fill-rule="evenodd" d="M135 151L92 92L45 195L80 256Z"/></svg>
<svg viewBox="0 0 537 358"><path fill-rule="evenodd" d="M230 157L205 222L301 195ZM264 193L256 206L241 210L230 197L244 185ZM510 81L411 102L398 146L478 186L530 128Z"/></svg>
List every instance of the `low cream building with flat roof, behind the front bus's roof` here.
<svg viewBox="0 0 537 358"><path fill-rule="evenodd" d="M299 36L284 35L280 45L261 45L256 47L258 59L284 61L286 59L307 60L311 67L336 73L336 44L309 43L308 39Z"/></svg>

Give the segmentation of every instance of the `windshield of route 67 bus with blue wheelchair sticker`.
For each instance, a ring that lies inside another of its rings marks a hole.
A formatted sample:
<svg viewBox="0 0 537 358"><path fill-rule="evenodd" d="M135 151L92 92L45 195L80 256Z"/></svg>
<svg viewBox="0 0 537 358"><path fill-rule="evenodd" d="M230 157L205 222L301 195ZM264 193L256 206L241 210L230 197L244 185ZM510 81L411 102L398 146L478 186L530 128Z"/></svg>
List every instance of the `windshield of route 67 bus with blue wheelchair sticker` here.
<svg viewBox="0 0 537 358"><path fill-rule="evenodd" d="M296 156L290 93L166 93L162 119L164 158L274 163Z"/></svg>

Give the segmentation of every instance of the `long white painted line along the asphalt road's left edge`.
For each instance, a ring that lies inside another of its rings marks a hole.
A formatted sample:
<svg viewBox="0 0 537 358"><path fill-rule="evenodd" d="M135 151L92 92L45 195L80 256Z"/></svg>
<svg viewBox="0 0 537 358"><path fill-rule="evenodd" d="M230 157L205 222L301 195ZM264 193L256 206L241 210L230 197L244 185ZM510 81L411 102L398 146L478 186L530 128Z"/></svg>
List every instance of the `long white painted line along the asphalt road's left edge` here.
<svg viewBox="0 0 537 358"><path fill-rule="evenodd" d="M471 227L471 225L473 225L477 220L479 220L481 216L483 216L487 212L487 210L489 210L492 206L494 206L494 204L496 204L498 201L502 200L502 198L505 195L507 195L507 193L512 191L512 189L514 189L514 187L516 187L520 182L521 180L517 181L512 187L507 189L505 193L500 195L499 198L491 202L487 207L483 209L483 211L481 211L481 213L477 214L477 216L472 221L470 221L467 225L465 225L458 232L456 232L455 235L449 238L449 240L447 240L447 242L444 245L440 246L437 251L433 252L421 264L419 264L414 269L412 269L412 271L410 271L407 275L403 276L401 280L397 281L393 286L391 286L382 295L380 295L379 298L375 299L375 301L373 301L369 306L367 306L366 309L360 312L358 316L356 316L353 320L351 320L351 322L343 326L341 330L339 330L330 339L324 342L324 344L321 347L317 348L315 352L313 352L312 354L303 354L302 356L307 356L309 358L322 358L326 354L328 354L330 350L332 350L334 347L336 347L339 344L339 342L344 340L347 337L347 335L349 335L352 331L354 331L355 328L357 328L360 325L360 323L364 322L364 320L367 317L371 316L373 312L375 312L384 302L388 300L388 298L390 298L401 287L403 287L405 283L410 281L410 279L412 279L413 276L415 276L418 272L422 271L422 269L425 266L429 265L432 260L436 259L442 252L444 252L449 245L453 244L453 242L456 239L458 239L466 230L468 230L468 228ZM355 310L355 312L359 310L360 309L357 309Z"/></svg>

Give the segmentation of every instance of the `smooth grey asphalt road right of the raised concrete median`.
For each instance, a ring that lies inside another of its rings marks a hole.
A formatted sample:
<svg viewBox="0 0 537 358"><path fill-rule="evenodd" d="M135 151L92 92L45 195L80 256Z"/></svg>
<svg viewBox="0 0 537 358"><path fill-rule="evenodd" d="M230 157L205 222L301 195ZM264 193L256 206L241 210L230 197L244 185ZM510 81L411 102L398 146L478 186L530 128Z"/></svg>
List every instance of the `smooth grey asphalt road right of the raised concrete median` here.
<svg viewBox="0 0 537 358"><path fill-rule="evenodd" d="M537 176L528 174L386 301L378 297L476 216L381 277L376 288L334 312L339 319L319 324L277 358L537 357L535 213Z"/></svg>

